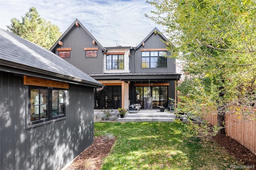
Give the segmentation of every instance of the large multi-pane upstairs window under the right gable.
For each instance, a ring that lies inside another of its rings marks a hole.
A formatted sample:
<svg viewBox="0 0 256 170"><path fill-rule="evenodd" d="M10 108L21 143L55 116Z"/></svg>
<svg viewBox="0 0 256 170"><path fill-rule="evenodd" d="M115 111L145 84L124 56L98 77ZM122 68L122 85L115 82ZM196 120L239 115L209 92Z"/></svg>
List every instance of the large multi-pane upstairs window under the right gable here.
<svg viewBox="0 0 256 170"><path fill-rule="evenodd" d="M142 51L142 68L166 68L166 51Z"/></svg>

